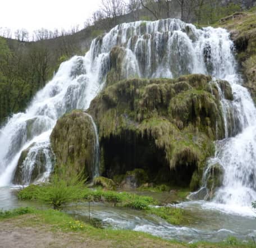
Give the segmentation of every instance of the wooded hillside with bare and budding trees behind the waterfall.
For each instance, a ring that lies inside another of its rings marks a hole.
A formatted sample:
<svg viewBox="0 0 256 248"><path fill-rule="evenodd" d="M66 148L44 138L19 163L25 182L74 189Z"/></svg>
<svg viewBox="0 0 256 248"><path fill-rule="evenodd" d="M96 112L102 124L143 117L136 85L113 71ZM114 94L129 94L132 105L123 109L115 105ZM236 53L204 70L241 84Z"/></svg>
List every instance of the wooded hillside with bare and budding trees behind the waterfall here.
<svg viewBox="0 0 256 248"><path fill-rule="evenodd" d="M85 54L95 36L122 22L180 18L208 25L255 5L255 0L102 0L102 7L85 21L85 28L69 31L25 29L11 34L0 28L0 123L24 111L61 62ZM13 39L15 38L15 39Z"/></svg>

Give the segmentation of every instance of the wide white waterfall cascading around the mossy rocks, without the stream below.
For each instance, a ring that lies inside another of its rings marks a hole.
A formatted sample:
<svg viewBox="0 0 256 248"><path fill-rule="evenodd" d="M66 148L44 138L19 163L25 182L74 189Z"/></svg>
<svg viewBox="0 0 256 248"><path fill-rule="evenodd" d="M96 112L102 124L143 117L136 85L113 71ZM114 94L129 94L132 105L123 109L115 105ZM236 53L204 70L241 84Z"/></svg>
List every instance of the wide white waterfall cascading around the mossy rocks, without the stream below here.
<svg viewBox="0 0 256 248"><path fill-rule="evenodd" d="M224 29L199 30L176 19L117 25L106 35L94 39L85 56L63 62L26 111L14 114L0 130L0 186L10 184L24 149L31 144L49 144L49 135L58 118L72 109L89 107L113 66L110 55L116 46L124 51L118 65L122 79L198 73L230 82L233 101L223 97L218 80L212 82L221 97L226 136L216 142L216 157L212 160L220 163L224 170L223 186L214 201L250 205L250 201L256 199L256 109L248 90L241 86L233 43ZM97 154L97 128L93 120L92 123ZM95 176L98 175L96 157ZM33 159L26 159L26 168L33 166L31 161ZM52 164L45 173L51 169Z"/></svg>

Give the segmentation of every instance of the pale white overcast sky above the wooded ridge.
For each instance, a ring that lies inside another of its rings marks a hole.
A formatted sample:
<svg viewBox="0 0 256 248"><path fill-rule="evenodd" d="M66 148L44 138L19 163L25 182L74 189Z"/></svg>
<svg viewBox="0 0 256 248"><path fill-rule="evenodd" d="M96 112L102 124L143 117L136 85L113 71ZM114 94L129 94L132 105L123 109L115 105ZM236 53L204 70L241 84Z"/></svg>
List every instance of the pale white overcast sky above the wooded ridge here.
<svg viewBox="0 0 256 248"><path fill-rule="evenodd" d="M30 33L80 25L100 6L100 0L0 0L0 27L25 28Z"/></svg>

